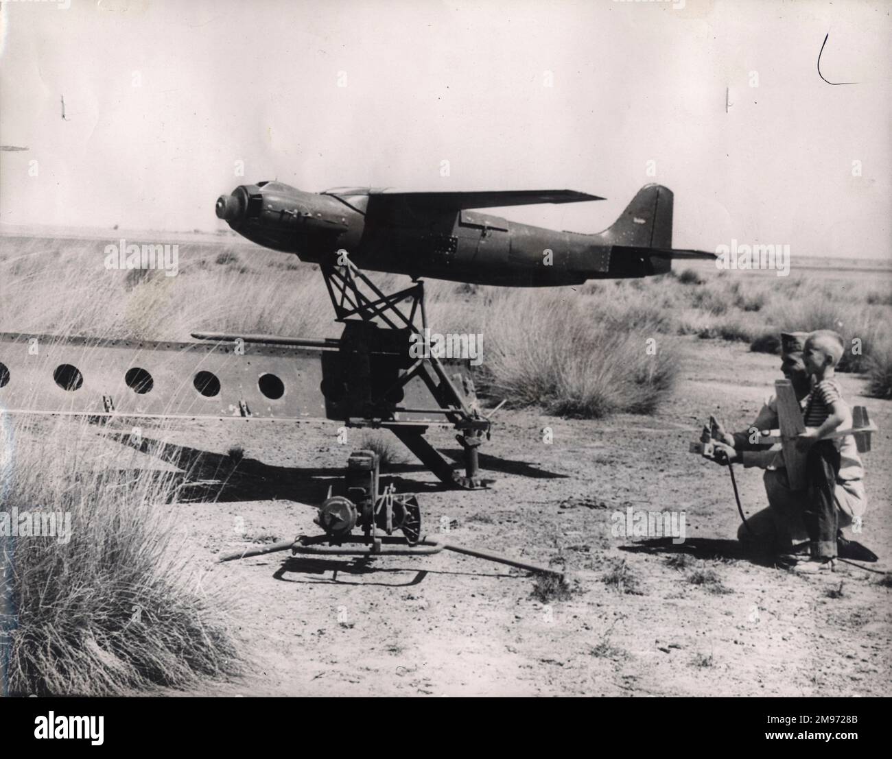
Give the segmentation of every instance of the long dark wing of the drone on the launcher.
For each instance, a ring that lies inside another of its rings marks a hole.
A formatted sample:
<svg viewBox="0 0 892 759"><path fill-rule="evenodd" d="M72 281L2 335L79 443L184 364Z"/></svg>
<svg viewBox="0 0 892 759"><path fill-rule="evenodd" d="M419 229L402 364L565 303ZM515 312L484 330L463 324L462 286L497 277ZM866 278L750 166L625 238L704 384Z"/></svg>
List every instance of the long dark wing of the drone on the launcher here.
<svg viewBox="0 0 892 759"><path fill-rule="evenodd" d="M497 190L493 192L368 192L368 214L387 214L397 208L410 211L451 212L468 208L529 206L536 203L579 203L604 200L574 190Z"/></svg>

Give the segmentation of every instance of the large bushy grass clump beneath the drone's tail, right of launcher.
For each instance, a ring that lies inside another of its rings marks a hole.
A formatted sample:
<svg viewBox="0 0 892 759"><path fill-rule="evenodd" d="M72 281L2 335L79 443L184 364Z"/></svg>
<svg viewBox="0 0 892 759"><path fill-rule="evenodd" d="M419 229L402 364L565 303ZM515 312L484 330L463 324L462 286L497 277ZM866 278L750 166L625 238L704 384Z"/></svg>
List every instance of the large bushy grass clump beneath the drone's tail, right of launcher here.
<svg viewBox="0 0 892 759"><path fill-rule="evenodd" d="M483 392L513 406L576 418L649 413L673 387L677 359L650 355L652 332L621 329L586 302L513 292L493 299L485 324Z"/></svg>

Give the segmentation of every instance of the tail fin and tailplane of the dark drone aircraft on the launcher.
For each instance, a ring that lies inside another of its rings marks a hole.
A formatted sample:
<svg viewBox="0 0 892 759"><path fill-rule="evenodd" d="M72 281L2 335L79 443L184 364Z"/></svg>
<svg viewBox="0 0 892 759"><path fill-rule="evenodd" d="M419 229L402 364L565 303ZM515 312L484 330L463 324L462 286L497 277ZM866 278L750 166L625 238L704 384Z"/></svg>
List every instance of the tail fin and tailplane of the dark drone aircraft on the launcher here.
<svg viewBox="0 0 892 759"><path fill-rule="evenodd" d="M672 269L673 258L714 258L702 250L672 247L673 192L646 184L614 224L599 234L611 244L611 276L649 276Z"/></svg>

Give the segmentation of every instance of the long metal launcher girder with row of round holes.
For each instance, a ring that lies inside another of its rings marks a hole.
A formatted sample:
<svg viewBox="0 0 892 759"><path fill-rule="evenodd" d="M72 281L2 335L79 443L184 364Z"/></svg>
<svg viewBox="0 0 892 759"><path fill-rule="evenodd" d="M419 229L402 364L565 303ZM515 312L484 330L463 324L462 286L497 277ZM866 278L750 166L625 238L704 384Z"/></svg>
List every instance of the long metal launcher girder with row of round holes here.
<svg viewBox="0 0 892 759"><path fill-rule="evenodd" d="M385 427L445 421L418 377L405 383L401 403L387 414L351 418L348 406L321 389L326 375L337 374L339 341L298 342L305 347L0 333L0 411L330 419Z"/></svg>

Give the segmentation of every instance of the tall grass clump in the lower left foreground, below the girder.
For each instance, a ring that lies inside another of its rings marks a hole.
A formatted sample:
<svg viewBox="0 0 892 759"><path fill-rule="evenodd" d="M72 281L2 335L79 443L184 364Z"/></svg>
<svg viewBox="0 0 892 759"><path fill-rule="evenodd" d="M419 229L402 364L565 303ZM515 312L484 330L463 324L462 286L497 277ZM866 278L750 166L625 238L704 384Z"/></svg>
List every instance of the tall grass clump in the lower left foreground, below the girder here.
<svg viewBox="0 0 892 759"><path fill-rule="evenodd" d="M70 533L0 537L0 687L117 695L236 673L225 607L176 555L174 474L136 469L136 452L96 467L86 421L12 436L0 511L70 515Z"/></svg>

